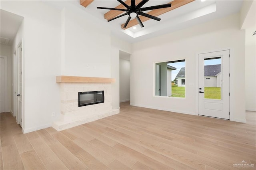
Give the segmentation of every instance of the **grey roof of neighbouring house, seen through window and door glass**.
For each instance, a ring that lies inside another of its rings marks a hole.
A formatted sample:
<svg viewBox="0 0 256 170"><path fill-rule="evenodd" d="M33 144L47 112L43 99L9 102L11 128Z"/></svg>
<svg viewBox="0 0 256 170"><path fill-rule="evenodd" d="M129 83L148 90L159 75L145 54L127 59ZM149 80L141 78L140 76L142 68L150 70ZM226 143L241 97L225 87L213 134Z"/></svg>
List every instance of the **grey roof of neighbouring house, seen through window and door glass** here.
<svg viewBox="0 0 256 170"><path fill-rule="evenodd" d="M204 66L204 76L216 76L221 71L221 65L205 65ZM185 67L182 67L179 73L176 75L175 79L185 77Z"/></svg>

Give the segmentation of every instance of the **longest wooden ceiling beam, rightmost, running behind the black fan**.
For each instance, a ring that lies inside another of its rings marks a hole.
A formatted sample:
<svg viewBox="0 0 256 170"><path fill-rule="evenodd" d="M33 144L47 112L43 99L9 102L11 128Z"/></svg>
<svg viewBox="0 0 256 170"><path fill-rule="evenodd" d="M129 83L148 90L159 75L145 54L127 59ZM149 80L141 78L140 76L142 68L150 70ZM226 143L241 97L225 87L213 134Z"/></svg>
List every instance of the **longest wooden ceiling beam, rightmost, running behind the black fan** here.
<svg viewBox="0 0 256 170"><path fill-rule="evenodd" d="M147 14L150 14L152 16L159 16L161 14L164 14L166 12L169 12L171 10L174 10L180 6L186 5L190 2L193 2L194 0L173 0L172 2L169 2L168 4L172 4L172 6L170 8L162 8L162 9L156 9L156 10L152 10L150 12L148 12ZM144 16L140 16L140 20L142 22L145 22L147 20L150 20L150 18L144 17ZM132 26L136 26L138 24L136 19L130 20L130 22L128 23L128 25L126 26L126 28L124 28L124 24L121 25L122 29L127 29L127 28L131 28Z"/></svg>

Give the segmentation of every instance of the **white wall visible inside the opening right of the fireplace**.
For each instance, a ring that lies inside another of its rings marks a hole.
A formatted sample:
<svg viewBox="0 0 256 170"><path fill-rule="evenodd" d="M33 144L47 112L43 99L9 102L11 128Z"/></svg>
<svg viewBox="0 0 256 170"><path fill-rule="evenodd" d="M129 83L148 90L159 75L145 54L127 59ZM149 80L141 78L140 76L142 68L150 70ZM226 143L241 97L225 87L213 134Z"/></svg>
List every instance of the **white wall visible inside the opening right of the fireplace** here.
<svg viewBox="0 0 256 170"><path fill-rule="evenodd" d="M120 74L120 102L130 101L130 61L119 61Z"/></svg>

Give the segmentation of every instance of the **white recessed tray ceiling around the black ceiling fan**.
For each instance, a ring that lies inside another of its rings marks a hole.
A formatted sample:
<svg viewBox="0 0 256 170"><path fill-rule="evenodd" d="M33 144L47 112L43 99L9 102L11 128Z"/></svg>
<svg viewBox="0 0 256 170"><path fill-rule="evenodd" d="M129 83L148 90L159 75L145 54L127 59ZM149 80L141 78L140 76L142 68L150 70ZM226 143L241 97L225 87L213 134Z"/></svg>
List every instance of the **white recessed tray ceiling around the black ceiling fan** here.
<svg viewBox="0 0 256 170"><path fill-rule="evenodd" d="M143 7L167 4L170 1L172 0L150 0ZM190 2L189 4L158 16L162 18L160 22L152 19L143 22L144 28L140 28L139 25L136 25L136 29L129 28L123 30L121 24L126 22L128 16L112 20L108 22L108 25L110 26L112 34L128 42L138 42L237 13L242 7L242 2L242 0L206 0L204 2L195 0L194 2ZM120 3L116 0L94 0L94 2L83 10L99 20L106 22L104 14L109 10L97 9L96 7L115 8L119 4Z"/></svg>

